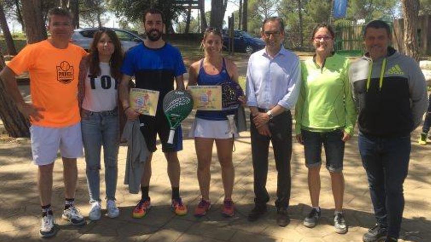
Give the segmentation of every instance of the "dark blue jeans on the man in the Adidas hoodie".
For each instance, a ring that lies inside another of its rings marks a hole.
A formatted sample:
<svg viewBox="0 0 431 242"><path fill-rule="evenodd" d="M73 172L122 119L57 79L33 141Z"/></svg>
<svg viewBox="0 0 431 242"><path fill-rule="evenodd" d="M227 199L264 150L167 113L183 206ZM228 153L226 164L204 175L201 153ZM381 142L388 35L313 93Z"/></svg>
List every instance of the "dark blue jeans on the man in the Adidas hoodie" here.
<svg viewBox="0 0 431 242"><path fill-rule="evenodd" d="M404 211L403 183L410 159L410 135L378 138L359 133L359 153L365 168L377 223L398 238Z"/></svg>

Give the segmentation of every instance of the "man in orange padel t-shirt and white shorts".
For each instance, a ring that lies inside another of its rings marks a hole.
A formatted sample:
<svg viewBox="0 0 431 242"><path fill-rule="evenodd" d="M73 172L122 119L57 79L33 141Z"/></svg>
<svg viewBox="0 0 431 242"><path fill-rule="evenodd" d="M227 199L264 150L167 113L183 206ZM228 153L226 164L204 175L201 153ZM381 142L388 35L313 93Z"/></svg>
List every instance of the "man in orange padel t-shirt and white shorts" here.
<svg viewBox="0 0 431 242"><path fill-rule="evenodd" d="M52 169L58 149L63 159L65 206L62 218L72 225L85 220L74 206L77 181L76 158L82 156L81 124L78 108L79 62L84 49L69 40L73 33L72 15L64 9L48 12L51 38L28 44L0 72L6 91L18 109L30 119L33 162L38 166L38 188L42 206L43 238L57 232L51 210ZM32 104L24 102L15 76L28 70Z"/></svg>

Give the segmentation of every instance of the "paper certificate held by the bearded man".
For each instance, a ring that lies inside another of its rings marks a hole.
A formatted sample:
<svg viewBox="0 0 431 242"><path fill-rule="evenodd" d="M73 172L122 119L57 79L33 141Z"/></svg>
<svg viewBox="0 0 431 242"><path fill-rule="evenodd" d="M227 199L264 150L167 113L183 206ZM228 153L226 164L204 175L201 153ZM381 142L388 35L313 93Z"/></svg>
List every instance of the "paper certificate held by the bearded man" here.
<svg viewBox="0 0 431 242"><path fill-rule="evenodd" d="M141 88L131 88L129 94L130 108L137 112L156 116L157 103L159 101L159 91Z"/></svg>

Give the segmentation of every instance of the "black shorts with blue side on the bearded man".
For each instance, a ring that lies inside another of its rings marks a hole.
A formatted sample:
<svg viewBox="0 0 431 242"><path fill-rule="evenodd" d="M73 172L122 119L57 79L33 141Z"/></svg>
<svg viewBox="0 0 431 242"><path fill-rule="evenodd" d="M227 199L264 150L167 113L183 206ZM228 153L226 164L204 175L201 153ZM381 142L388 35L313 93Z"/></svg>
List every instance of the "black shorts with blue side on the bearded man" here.
<svg viewBox="0 0 431 242"><path fill-rule="evenodd" d="M144 135L146 146L150 152L155 152L156 134L159 134L163 152L178 152L183 149L183 132L181 125L175 130L173 144L168 144L170 127L168 119L163 112L157 112L156 116L140 115L141 132Z"/></svg>

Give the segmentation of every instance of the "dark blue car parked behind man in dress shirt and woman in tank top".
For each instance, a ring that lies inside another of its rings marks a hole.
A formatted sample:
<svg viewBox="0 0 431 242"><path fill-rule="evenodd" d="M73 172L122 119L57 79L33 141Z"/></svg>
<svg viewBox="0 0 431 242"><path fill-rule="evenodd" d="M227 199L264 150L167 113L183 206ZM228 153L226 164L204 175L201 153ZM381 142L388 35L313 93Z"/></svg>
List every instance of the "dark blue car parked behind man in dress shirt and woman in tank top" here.
<svg viewBox="0 0 431 242"><path fill-rule="evenodd" d="M223 29L223 45L228 48L229 32ZM251 54L265 47L265 42L262 39L251 36L249 33L242 30L234 30L234 51L245 52Z"/></svg>

